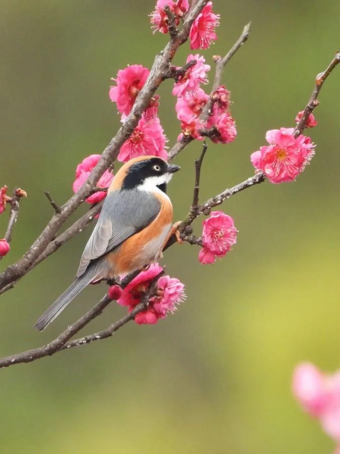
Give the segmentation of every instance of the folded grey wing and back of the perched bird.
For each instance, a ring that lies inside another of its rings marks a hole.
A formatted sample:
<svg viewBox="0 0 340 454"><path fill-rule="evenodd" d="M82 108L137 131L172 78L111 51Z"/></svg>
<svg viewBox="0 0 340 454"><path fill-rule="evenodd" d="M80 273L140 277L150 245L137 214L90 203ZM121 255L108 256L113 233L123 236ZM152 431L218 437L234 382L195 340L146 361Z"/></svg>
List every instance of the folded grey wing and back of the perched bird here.
<svg viewBox="0 0 340 454"><path fill-rule="evenodd" d="M112 191L105 199L99 219L80 259L77 277L95 260L148 226L161 204L151 193L139 190Z"/></svg>

